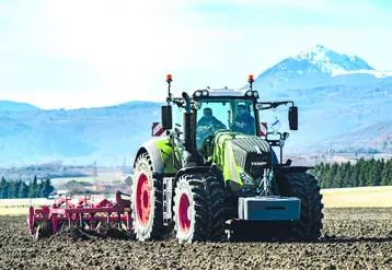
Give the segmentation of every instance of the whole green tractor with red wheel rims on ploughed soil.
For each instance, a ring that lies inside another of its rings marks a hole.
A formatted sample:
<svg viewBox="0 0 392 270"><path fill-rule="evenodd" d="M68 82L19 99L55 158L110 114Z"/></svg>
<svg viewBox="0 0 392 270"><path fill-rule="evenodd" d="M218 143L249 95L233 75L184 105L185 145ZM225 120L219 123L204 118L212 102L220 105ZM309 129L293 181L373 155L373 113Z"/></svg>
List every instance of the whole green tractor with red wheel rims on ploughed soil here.
<svg viewBox="0 0 392 270"><path fill-rule="evenodd" d="M297 130L293 102L258 103L252 75L246 90L207 87L181 97L171 94L171 75L166 82L160 122L165 137L142 144L134 163L136 238L173 233L178 243L220 242L264 232L318 239L323 219L318 180L307 173L310 167L283 163L287 132L261 133L258 113L280 105L291 105L289 127ZM280 149L280 162L274 148Z"/></svg>

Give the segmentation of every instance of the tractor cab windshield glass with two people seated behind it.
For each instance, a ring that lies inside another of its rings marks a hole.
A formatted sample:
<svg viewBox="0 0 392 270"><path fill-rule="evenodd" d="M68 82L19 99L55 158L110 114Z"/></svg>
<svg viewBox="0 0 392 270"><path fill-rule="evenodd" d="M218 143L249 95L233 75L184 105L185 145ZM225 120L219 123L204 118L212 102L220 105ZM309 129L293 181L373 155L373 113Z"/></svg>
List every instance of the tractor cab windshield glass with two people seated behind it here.
<svg viewBox="0 0 392 270"><path fill-rule="evenodd" d="M197 111L196 143L199 148L203 141L218 130L233 130L244 134L255 136L253 103L244 99L208 99L200 101Z"/></svg>

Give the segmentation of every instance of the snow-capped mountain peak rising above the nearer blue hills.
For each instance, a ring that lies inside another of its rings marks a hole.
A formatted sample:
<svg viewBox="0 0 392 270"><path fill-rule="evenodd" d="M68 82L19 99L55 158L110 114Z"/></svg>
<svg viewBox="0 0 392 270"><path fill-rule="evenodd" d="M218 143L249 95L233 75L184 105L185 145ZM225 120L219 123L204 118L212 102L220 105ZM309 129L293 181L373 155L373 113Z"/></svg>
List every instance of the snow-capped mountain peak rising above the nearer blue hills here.
<svg viewBox="0 0 392 270"><path fill-rule="evenodd" d="M392 72L372 68L357 56L330 50L321 45L286 58L261 73L254 86L264 96L277 91L313 89L325 85L365 86L392 82Z"/></svg>

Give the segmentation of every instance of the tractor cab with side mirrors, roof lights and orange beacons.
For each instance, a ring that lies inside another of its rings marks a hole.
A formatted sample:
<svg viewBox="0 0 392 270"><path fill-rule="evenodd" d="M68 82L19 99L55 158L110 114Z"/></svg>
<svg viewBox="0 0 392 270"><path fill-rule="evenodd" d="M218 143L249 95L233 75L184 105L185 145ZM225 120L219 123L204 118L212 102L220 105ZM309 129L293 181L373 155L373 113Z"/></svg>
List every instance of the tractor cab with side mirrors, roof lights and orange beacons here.
<svg viewBox="0 0 392 270"><path fill-rule="evenodd" d="M194 91L191 96L184 92L182 97L172 97L171 81L169 75L166 80L169 83L168 105L162 106L161 117L163 129L166 130L168 136L174 138L172 142L174 148L178 148L176 153L181 155L183 146L187 146L201 153L203 157L208 160L210 157L206 155L210 152L208 146L211 146L210 142L219 131L220 134L265 137L265 141L270 146L280 149L280 163L283 162L283 146L288 133L281 134L276 131L267 134L262 133L261 128L263 127L258 113L291 104L288 119L290 129L297 130L298 109L293 106L293 102L260 103L258 92L252 87L253 75L249 77L250 87L247 89L210 89L207 86L204 90ZM273 139L270 139L272 133L275 136ZM181 159L178 156L178 162Z"/></svg>

